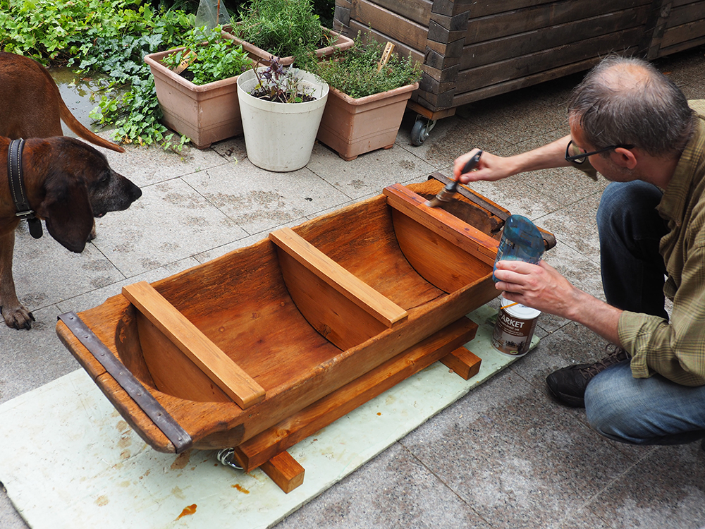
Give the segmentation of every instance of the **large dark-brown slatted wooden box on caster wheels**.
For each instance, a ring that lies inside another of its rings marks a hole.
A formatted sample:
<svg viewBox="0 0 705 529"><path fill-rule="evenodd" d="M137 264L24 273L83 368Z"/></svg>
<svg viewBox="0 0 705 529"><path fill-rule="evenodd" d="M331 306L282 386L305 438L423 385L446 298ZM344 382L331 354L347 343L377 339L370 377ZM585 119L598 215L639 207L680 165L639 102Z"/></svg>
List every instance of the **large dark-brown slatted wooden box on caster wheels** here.
<svg viewBox="0 0 705 529"><path fill-rule="evenodd" d="M705 43L705 0L336 0L333 28L370 31L423 63L409 103L428 120L412 133L420 145L462 104L587 70L611 51L656 59Z"/></svg>

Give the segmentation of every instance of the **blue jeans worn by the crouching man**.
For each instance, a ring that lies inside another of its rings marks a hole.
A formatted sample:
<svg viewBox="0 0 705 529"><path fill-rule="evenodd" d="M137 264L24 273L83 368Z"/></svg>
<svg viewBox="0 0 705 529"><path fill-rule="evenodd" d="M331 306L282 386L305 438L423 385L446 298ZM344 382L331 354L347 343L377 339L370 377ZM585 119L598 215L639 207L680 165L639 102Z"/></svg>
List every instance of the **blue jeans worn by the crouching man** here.
<svg viewBox="0 0 705 529"><path fill-rule="evenodd" d="M668 227L655 209L660 200L661 191L649 183L613 182L602 195L597 226L607 302L668 318L666 267L658 253ZM591 427L615 441L681 444L705 437L705 386L681 386L660 375L635 379L628 362L589 382L585 411Z"/></svg>

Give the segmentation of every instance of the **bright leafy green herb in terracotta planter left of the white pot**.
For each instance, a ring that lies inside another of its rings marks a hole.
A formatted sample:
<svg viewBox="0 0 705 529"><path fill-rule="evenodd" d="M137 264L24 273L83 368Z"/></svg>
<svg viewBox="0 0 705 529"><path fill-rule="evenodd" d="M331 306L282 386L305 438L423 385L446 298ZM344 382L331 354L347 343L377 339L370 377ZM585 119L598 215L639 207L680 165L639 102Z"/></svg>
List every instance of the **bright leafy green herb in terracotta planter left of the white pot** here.
<svg viewBox="0 0 705 529"><path fill-rule="evenodd" d="M214 30L193 28L183 40L185 49L164 57L162 63L172 70L193 51L197 59L182 75L195 85L240 75L250 66L250 57L235 41L221 37L221 27ZM184 75L188 72L188 75Z"/></svg>

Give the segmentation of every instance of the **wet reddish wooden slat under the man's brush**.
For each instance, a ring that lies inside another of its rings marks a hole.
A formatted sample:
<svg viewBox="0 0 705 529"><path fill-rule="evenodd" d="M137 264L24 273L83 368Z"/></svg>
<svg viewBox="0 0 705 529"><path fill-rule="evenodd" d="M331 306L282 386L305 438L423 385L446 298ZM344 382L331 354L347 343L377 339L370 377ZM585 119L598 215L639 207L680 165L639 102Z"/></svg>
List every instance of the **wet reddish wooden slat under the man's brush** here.
<svg viewBox="0 0 705 529"><path fill-rule="evenodd" d="M388 204L411 219L426 226L458 248L474 255L488 265L494 265L499 243L439 207L424 205L426 200L400 184L384 188Z"/></svg>

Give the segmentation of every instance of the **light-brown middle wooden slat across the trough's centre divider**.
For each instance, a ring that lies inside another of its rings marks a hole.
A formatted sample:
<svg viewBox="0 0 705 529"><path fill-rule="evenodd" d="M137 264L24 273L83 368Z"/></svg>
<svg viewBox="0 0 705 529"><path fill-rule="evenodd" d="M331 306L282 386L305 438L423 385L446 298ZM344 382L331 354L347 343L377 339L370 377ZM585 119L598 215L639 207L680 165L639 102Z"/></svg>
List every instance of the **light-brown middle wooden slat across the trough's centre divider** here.
<svg viewBox="0 0 705 529"><path fill-rule="evenodd" d="M357 279L292 229L283 228L274 231L269 234L269 239L319 279L335 288L386 327L392 327L393 324L407 318L408 313L403 308L392 303L364 281Z"/></svg>

